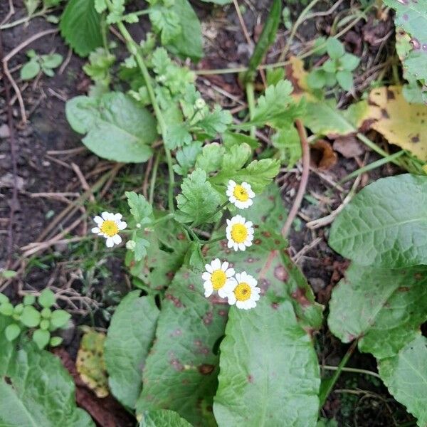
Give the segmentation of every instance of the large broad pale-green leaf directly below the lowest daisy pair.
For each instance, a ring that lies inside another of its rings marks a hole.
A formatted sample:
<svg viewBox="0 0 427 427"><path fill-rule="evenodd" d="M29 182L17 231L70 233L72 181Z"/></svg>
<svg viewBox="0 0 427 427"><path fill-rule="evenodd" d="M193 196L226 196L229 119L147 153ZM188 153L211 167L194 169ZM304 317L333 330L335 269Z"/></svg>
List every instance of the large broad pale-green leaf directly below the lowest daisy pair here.
<svg viewBox="0 0 427 427"><path fill-rule="evenodd" d="M221 343L219 427L316 426L320 373L310 336L288 301L232 307Z"/></svg>

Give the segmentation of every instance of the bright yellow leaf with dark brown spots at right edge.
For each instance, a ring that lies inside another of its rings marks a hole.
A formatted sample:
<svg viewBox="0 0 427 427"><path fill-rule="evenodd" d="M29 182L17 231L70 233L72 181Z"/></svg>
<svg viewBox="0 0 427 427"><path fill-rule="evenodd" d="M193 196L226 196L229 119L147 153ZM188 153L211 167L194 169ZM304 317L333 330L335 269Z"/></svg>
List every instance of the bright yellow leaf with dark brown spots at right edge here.
<svg viewBox="0 0 427 427"><path fill-rule="evenodd" d="M371 90L369 100L371 117L379 117L371 128L427 162L427 105L406 102L400 86Z"/></svg>

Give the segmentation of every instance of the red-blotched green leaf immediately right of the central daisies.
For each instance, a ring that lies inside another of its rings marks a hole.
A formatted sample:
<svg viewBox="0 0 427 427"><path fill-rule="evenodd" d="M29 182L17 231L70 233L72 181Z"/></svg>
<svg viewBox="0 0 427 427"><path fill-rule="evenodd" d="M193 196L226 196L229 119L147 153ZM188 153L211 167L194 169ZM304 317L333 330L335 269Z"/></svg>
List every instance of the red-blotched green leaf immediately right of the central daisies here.
<svg viewBox="0 0 427 427"><path fill-rule="evenodd" d="M261 288L261 297L268 295L272 303L290 300L306 330L320 329L323 307L315 302L312 288L290 260L286 242L280 236L287 213L278 187L271 185L255 196L253 206L243 215L255 226L253 245L244 252L235 252L223 240L209 246L209 256L228 261L236 273L246 271L253 275Z"/></svg>

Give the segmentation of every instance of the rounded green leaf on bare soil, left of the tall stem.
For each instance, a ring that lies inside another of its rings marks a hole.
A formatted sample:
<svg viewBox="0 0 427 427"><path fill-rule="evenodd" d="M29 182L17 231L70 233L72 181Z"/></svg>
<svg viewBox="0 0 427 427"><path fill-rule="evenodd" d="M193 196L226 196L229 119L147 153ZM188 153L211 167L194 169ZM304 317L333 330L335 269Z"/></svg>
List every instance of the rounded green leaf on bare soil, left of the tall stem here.
<svg viewBox="0 0 427 427"><path fill-rule="evenodd" d="M76 97L65 106L73 130L88 132L82 142L92 152L117 162L146 162L157 137L156 122L148 110L123 93L102 95L99 102ZM86 115L83 122L80 117Z"/></svg>

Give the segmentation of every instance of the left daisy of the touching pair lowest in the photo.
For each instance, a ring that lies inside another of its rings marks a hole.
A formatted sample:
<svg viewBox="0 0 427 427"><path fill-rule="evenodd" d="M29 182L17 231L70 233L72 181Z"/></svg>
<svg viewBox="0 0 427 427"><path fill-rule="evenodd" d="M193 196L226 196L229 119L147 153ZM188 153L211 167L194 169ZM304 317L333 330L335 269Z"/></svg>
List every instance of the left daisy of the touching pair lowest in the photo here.
<svg viewBox="0 0 427 427"><path fill-rule="evenodd" d="M204 280L205 297L211 296L216 290L221 298L225 298L236 286L236 280L233 278L234 269L228 268L228 265L226 262L221 264L218 258L205 265L206 271L201 275Z"/></svg>

